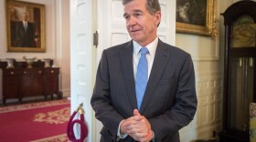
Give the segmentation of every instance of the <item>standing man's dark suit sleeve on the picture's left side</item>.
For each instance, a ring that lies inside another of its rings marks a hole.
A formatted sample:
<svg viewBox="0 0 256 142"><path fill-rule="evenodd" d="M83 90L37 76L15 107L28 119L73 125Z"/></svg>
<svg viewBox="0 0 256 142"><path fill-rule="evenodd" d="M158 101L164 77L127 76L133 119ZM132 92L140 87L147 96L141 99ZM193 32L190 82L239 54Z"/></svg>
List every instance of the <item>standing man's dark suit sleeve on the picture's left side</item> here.
<svg viewBox="0 0 256 142"><path fill-rule="evenodd" d="M103 133L111 133L112 140L116 141L117 129L123 117L112 106L110 82L108 57L106 50L104 50L97 70L96 82L91 96L91 106L95 111L95 117L104 126L101 130L102 137L104 137Z"/></svg>

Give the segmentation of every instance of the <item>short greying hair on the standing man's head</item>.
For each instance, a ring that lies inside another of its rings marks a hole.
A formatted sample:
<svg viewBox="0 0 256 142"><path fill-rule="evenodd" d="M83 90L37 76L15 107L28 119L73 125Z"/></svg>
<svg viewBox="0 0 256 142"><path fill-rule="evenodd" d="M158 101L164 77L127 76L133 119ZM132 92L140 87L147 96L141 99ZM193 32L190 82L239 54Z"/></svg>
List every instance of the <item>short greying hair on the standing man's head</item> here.
<svg viewBox="0 0 256 142"><path fill-rule="evenodd" d="M131 2L133 0L123 0L123 5ZM158 0L146 0L146 9L150 13L150 15L154 15L157 11L161 11L160 4Z"/></svg>

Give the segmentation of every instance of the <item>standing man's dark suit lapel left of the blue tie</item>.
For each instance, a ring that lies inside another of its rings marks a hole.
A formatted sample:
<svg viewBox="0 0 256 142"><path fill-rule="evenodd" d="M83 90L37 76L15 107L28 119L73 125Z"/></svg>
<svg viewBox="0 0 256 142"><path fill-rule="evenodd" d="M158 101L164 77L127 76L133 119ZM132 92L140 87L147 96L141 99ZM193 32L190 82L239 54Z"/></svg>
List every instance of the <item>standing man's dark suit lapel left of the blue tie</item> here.
<svg viewBox="0 0 256 142"><path fill-rule="evenodd" d="M120 52L123 80L130 104L133 108L137 107L135 83L133 76L133 42L129 42Z"/></svg>

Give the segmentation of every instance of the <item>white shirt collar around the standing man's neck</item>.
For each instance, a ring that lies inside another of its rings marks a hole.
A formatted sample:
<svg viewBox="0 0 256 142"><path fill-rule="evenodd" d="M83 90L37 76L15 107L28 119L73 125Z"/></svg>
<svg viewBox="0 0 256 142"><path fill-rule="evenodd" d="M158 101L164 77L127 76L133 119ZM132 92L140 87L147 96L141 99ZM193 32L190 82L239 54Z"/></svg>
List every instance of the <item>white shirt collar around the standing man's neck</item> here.
<svg viewBox="0 0 256 142"><path fill-rule="evenodd" d="M151 42L150 44L148 44L147 49L149 51L150 56L155 56L155 50L156 50L156 46L158 44L158 37L155 38L155 40L153 42ZM133 40L133 54L134 55L138 55L140 52L140 49L143 46L140 46L136 41Z"/></svg>

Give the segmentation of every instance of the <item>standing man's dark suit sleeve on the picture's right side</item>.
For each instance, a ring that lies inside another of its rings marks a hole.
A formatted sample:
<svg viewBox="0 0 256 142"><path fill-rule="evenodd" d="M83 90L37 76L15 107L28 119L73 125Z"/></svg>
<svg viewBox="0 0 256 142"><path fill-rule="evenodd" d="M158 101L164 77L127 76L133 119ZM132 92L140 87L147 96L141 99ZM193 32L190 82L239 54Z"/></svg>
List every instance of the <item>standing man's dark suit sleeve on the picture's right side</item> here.
<svg viewBox="0 0 256 142"><path fill-rule="evenodd" d="M157 142L176 135L193 119L197 110L197 94L195 88L195 72L191 56L187 56L180 69L175 105L165 111L165 114L149 119L155 132Z"/></svg>

